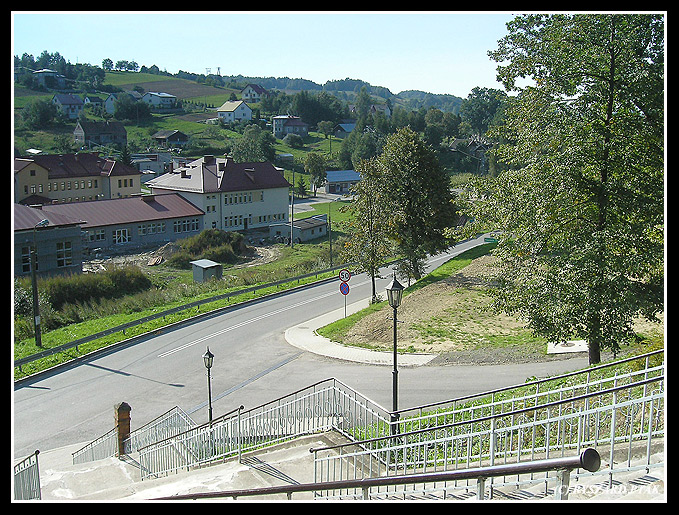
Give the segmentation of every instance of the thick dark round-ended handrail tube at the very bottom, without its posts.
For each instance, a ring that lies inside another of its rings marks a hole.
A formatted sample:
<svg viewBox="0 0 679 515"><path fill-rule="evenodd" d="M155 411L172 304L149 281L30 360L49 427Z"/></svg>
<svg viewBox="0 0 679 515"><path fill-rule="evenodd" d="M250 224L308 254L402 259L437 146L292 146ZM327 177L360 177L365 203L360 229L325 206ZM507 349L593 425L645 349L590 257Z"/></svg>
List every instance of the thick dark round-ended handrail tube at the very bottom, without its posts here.
<svg viewBox="0 0 679 515"><path fill-rule="evenodd" d="M220 497L245 497L254 495L288 494L314 492L322 490L340 490L349 488L361 488L364 497L367 490L379 486L408 485L416 483L434 483L444 481L461 481L466 479L486 479L490 477L530 474L547 472L550 470L566 470L583 468L588 472L596 472L601 465L599 453L592 448L585 449L579 456L565 458L551 458L547 460L493 465L475 469L453 470L448 472L432 472L426 474L411 474L405 476L392 476L388 478L364 478L345 479L341 481L326 481L320 483L303 483L296 485L269 486L264 488L249 488L241 490L223 490L219 492L202 492L192 494L172 495L169 497L157 497L151 500L190 500L190 499L215 499ZM557 492L558 493L558 492ZM567 495L566 492L561 492Z"/></svg>

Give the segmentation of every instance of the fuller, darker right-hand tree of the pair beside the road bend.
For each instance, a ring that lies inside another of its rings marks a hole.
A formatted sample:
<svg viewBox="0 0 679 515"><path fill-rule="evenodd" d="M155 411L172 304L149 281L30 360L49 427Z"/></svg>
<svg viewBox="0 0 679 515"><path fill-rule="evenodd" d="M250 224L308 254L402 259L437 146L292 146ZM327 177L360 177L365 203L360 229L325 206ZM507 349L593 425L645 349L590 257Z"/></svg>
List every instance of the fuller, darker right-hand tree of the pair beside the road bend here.
<svg viewBox="0 0 679 515"><path fill-rule="evenodd" d="M404 258L402 269L409 278L420 279L426 255L451 244L446 228L455 225L457 210L448 176L434 151L409 127L387 137L374 165L389 237Z"/></svg>

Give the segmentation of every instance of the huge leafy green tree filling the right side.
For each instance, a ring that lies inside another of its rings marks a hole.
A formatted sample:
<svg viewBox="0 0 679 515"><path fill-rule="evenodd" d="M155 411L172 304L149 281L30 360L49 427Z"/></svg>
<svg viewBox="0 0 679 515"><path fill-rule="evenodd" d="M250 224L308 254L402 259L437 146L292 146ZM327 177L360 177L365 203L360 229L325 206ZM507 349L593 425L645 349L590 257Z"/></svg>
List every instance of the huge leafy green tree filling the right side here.
<svg viewBox="0 0 679 515"><path fill-rule="evenodd" d="M498 155L475 189L500 229L494 305L551 341L619 350L663 309L664 20L529 15L490 55L510 102ZM517 78L530 86L519 87Z"/></svg>

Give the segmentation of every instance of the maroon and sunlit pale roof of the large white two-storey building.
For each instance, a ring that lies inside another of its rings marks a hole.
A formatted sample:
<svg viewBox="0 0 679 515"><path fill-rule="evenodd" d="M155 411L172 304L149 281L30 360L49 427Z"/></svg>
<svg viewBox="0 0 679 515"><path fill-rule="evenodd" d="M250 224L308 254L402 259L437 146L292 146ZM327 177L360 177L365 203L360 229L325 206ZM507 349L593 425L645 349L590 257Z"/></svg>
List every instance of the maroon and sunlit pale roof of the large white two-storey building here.
<svg viewBox="0 0 679 515"><path fill-rule="evenodd" d="M288 188L280 169L269 162L236 163L232 158L204 156L146 183L151 188L217 193Z"/></svg>

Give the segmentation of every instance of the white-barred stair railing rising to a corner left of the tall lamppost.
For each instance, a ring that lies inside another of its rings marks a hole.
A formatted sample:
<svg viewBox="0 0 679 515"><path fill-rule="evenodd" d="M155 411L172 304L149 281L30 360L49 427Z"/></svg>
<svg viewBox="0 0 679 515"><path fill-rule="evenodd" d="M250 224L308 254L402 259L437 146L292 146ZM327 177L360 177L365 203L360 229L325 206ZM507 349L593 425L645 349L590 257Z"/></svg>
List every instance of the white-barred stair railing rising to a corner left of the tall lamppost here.
<svg viewBox="0 0 679 515"><path fill-rule="evenodd" d="M364 427L388 431L388 412L337 379L327 379L248 411L241 406L211 424L140 448L141 475L145 479L189 470L330 429L363 434Z"/></svg>

